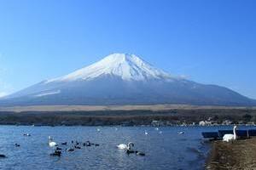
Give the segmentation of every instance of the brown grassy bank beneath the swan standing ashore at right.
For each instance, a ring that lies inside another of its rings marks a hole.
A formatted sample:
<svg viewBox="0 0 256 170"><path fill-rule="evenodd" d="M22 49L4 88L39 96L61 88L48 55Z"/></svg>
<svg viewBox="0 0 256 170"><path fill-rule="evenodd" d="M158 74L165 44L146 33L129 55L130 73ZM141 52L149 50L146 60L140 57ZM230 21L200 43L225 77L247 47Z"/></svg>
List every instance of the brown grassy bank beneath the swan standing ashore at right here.
<svg viewBox="0 0 256 170"><path fill-rule="evenodd" d="M236 140L233 143L214 141L207 169L256 169L256 138Z"/></svg>

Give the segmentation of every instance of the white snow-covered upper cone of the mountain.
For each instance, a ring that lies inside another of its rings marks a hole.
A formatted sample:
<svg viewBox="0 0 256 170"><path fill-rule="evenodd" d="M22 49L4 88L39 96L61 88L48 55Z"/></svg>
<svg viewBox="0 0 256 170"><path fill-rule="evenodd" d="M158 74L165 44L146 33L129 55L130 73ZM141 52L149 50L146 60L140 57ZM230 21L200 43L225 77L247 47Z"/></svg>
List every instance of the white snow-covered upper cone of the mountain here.
<svg viewBox="0 0 256 170"><path fill-rule="evenodd" d="M148 79L169 80L173 78L165 71L149 65L135 54L110 54L95 64L47 82L91 80L104 75L121 77L127 81L143 81Z"/></svg>

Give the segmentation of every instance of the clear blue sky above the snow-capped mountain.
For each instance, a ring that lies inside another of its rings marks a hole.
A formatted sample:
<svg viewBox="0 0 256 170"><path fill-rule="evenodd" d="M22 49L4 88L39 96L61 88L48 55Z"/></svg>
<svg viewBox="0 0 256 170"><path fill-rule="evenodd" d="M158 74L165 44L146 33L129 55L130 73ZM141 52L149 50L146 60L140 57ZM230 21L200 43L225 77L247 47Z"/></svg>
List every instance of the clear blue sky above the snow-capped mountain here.
<svg viewBox="0 0 256 170"><path fill-rule="evenodd" d="M0 95L113 53L256 99L256 1L0 0Z"/></svg>

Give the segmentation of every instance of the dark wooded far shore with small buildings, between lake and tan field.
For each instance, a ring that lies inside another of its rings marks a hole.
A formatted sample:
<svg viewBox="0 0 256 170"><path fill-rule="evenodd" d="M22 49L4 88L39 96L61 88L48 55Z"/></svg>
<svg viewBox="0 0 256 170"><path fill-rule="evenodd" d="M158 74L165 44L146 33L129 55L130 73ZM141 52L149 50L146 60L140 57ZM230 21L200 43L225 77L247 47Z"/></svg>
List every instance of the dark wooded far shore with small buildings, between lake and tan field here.
<svg viewBox="0 0 256 170"><path fill-rule="evenodd" d="M53 126L254 125L256 110L172 109L165 111L0 111L0 124Z"/></svg>

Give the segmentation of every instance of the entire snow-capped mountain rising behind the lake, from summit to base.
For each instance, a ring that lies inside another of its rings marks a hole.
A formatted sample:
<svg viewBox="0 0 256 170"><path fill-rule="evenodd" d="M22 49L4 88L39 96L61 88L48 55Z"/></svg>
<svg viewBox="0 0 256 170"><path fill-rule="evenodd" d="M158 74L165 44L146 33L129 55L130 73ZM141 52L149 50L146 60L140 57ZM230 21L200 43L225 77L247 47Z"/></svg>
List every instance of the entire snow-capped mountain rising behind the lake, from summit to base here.
<svg viewBox="0 0 256 170"><path fill-rule="evenodd" d="M39 82L0 105L255 105L229 88L175 77L135 54L111 54L63 77Z"/></svg>

